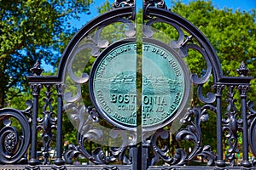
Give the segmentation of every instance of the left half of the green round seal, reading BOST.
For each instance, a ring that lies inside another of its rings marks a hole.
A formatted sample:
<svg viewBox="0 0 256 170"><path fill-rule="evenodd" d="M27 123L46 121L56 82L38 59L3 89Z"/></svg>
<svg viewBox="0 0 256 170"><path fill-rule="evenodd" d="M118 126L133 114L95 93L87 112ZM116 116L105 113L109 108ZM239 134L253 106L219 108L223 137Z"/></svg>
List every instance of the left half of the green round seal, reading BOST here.
<svg viewBox="0 0 256 170"><path fill-rule="evenodd" d="M96 110L114 126L136 127L136 42L117 42L108 49L96 59L91 70L91 99Z"/></svg>

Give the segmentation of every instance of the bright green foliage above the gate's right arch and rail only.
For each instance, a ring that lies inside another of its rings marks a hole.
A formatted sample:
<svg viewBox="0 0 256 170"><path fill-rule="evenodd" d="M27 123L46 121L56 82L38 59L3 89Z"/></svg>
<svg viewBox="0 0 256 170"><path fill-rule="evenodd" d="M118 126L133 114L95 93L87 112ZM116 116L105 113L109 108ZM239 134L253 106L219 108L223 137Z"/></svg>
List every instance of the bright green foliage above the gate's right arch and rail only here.
<svg viewBox="0 0 256 170"><path fill-rule="evenodd" d="M237 76L242 60L251 76L255 74L256 11L213 8L212 2L192 1L189 5L174 1L172 12L180 14L198 27L216 49L225 76Z"/></svg>

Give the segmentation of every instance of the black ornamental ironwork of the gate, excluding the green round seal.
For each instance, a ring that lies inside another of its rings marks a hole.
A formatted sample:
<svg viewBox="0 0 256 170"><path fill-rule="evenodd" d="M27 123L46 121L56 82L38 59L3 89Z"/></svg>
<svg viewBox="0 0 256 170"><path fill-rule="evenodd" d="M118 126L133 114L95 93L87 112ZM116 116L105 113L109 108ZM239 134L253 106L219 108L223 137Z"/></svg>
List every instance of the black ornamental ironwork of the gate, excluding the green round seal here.
<svg viewBox="0 0 256 170"><path fill-rule="evenodd" d="M69 42L61 57L56 76L40 76L43 70L38 62L34 65L34 75L27 77L33 96L32 101L26 103L27 109L0 110L0 169L256 169L255 161L249 160L249 154L256 156L256 111L253 110L253 101L247 99L253 77L247 77L248 70L243 62L237 70L239 77L224 77L218 56L207 37L188 20L170 12L163 0L144 0L142 39L154 36L155 32L151 27L154 23L166 23L175 28L178 34L177 40L165 44L167 48L177 52L177 56L181 58L186 58L188 50L193 49L201 54L207 63L203 76L199 77L195 73L190 75L191 82L197 88L197 98L201 100L201 105L188 108L183 117L180 117L183 127L177 129L175 134L178 143L186 141L192 145L192 149L188 151L181 145L175 153L171 153L168 148L160 148L159 142L170 138L170 133L165 127L156 127L155 132L140 127L137 130L142 132L137 132L130 127L125 127L128 131L124 131L123 127L116 128L113 125L108 134L102 132L99 128L99 120L102 117L99 116L97 108L81 102L81 87L89 82L90 75L83 73L81 77L77 77L73 71L73 63L82 50L90 50L90 55L94 58L108 51L115 42L103 38L102 30L107 26L116 23L126 26L125 30L119 32L123 37L116 37L116 43L136 40L138 25L135 16L134 1L116 0L111 11L91 20ZM203 86L211 76L215 91L204 94ZM68 91L68 81L75 84L77 92ZM46 90L43 94L45 97L41 99L43 89ZM236 106L236 92L240 94L241 111ZM44 103L43 108L38 105L41 100ZM57 104L57 109L53 108L54 103ZM201 127L203 123L207 124L208 112L217 117L216 153L213 152L212 146L203 145L201 138ZM62 116L66 113L69 113L71 121L76 123L78 144L70 144L68 149L63 151ZM20 127L14 126L13 119L19 122ZM40 141L38 134L41 135ZM121 136L122 144L108 149L109 154L104 153L103 150L107 149L101 144L95 150L86 150L85 146L89 145L92 139L114 140L118 136ZM242 138L242 150L238 150L239 138ZM56 140L56 156L55 161L49 161L53 140ZM38 142L44 146L42 162L37 156ZM242 153L242 160L237 164L236 154L239 153ZM69 165L77 156L84 156L90 165ZM205 160L204 166L189 166L197 157ZM122 165L116 164L117 161ZM160 163L160 166L156 166Z"/></svg>

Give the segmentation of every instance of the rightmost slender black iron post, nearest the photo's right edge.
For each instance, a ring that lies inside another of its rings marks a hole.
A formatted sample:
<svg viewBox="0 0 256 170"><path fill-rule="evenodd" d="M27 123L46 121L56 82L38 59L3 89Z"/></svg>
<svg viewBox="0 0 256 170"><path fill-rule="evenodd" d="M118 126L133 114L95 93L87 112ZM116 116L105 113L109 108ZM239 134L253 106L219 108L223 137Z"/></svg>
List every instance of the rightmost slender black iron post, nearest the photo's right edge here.
<svg viewBox="0 0 256 170"><path fill-rule="evenodd" d="M249 85L239 85L241 99L241 117L242 117L242 161L241 166L251 167L252 164L248 161L248 134L247 134L247 90Z"/></svg>

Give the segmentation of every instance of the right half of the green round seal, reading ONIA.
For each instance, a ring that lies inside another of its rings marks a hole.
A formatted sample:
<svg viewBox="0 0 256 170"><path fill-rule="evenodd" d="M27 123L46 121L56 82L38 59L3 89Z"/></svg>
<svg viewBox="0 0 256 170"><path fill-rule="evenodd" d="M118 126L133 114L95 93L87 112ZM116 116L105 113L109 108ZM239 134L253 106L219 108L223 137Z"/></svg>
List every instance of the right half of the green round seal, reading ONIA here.
<svg viewBox="0 0 256 170"><path fill-rule="evenodd" d="M165 127L189 98L189 71L183 59L166 44L143 42L142 124L146 131Z"/></svg>

